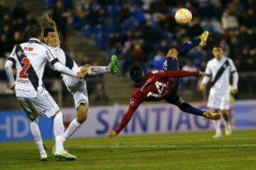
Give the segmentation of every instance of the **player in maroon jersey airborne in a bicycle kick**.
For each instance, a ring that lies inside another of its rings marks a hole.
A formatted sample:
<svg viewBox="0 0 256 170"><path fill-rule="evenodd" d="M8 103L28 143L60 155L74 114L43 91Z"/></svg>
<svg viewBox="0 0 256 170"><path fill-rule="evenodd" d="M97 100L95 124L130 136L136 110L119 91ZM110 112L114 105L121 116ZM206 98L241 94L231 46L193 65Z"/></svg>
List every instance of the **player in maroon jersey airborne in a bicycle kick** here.
<svg viewBox="0 0 256 170"><path fill-rule="evenodd" d="M203 77L203 72L187 72L178 69L178 56L185 55L189 50L197 45L204 47L208 39L208 31L204 31L199 38L193 39L184 44L178 45L176 48L171 48L166 55L164 69L151 70L146 75L142 69L134 65L130 69L130 77L134 81L134 89L129 103L129 108L124 114L121 123L114 130L108 132L109 137L114 137L122 131L122 129L129 123L132 115L143 101L161 101L174 104L186 113L193 115L200 115L212 120L219 120L220 115L217 113L210 113L208 111L201 111L194 108L186 101L183 101L178 91L179 77Z"/></svg>

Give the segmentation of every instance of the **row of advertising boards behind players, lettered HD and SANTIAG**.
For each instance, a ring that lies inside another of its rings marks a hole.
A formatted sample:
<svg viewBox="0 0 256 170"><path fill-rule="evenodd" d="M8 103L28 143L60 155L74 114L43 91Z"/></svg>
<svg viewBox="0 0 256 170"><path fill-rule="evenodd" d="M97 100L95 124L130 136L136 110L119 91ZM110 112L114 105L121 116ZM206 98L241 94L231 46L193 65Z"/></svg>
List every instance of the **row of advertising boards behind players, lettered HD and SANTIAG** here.
<svg viewBox="0 0 256 170"><path fill-rule="evenodd" d="M192 104L207 110L206 103ZM87 121L73 137L105 136L108 130L117 126L126 109L127 106L90 107ZM75 108L61 110L65 124L75 118ZM235 129L256 128L256 101L237 101L234 111ZM40 118L39 124L43 139L52 139L53 120ZM151 103L138 108L120 135L196 130L213 130L213 123L206 118L183 113L170 104ZM32 139L29 120L23 111L0 111L0 142Z"/></svg>

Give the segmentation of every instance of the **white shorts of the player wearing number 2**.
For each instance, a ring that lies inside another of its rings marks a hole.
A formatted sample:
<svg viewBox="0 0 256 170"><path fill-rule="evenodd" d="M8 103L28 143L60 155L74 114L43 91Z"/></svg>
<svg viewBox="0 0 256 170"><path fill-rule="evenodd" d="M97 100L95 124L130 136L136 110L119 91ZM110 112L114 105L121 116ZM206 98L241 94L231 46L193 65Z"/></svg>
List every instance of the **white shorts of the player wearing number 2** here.
<svg viewBox="0 0 256 170"><path fill-rule="evenodd" d="M36 98L17 98L30 120L36 120L38 116L50 118L60 110L46 89L43 89Z"/></svg>

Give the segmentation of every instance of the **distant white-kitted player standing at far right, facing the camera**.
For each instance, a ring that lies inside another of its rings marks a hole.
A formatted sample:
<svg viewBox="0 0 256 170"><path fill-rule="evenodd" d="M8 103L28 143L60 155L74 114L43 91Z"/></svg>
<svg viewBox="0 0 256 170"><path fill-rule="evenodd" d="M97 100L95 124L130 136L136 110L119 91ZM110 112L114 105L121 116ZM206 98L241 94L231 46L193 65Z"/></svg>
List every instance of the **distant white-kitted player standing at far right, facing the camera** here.
<svg viewBox="0 0 256 170"><path fill-rule="evenodd" d="M206 66L206 77L203 78L199 90L206 91L206 84L211 79L210 94L208 97L209 108L215 113L222 113L225 125L225 135L232 132L230 120L228 119L228 110L230 109L230 92L236 94L238 92L238 72L235 68L233 60L223 56L223 48L216 45L213 47L214 58L208 61ZM230 91L230 75L233 76L232 89ZM213 138L220 137L220 120L213 120L215 127L215 135Z"/></svg>

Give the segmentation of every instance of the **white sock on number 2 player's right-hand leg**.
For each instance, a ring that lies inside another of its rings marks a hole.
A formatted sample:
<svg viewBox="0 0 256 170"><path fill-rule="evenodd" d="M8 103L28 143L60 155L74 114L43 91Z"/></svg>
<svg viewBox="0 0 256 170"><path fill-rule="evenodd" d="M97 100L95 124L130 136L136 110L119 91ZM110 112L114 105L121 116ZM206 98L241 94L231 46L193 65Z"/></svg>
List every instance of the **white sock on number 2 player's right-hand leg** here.
<svg viewBox="0 0 256 170"><path fill-rule="evenodd" d="M64 133L64 125L63 125L63 113L56 113L55 118L53 120L53 132L55 135L55 147L56 151L63 151L63 133Z"/></svg>

